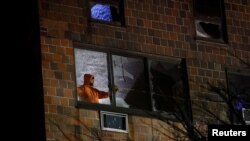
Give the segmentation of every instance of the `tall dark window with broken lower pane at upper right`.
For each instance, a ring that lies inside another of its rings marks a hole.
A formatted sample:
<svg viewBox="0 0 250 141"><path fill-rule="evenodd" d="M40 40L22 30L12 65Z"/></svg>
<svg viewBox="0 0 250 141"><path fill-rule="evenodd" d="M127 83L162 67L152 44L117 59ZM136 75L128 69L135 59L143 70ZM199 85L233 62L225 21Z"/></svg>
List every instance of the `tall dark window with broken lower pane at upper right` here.
<svg viewBox="0 0 250 141"><path fill-rule="evenodd" d="M223 0L194 0L197 39L227 42Z"/></svg>

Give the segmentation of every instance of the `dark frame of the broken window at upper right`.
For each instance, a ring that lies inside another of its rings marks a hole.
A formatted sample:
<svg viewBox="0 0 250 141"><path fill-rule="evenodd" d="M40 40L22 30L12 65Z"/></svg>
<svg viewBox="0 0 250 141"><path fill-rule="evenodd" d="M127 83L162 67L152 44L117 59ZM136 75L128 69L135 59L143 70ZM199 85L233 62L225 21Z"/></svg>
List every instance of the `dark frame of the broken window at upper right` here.
<svg viewBox="0 0 250 141"><path fill-rule="evenodd" d="M204 23L214 23L218 24L220 28L220 35L222 36L221 39L213 39L208 37L200 37L197 35L197 32L195 32L195 39L196 40L204 40L204 41L211 41L211 42L218 42L218 43L228 43L228 34L227 34L227 24L226 24L226 14L225 14L225 5L224 0L216 0L219 3L218 8L220 8L219 11L219 17L216 16L201 16L197 11L197 1L201 0L193 0L193 15L194 15L194 25L195 25L195 31L197 31L196 22L201 21ZM207 0L209 1L209 0ZM214 14L214 13L213 13Z"/></svg>

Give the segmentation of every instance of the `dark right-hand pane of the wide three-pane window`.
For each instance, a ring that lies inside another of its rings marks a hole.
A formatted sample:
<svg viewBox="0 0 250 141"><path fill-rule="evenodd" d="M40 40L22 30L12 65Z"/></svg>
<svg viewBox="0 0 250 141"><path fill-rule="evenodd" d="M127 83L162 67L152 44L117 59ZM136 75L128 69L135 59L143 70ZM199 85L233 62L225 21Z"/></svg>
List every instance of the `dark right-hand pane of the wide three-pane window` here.
<svg viewBox="0 0 250 141"><path fill-rule="evenodd" d="M187 111L180 64L150 60L149 78L154 111Z"/></svg>

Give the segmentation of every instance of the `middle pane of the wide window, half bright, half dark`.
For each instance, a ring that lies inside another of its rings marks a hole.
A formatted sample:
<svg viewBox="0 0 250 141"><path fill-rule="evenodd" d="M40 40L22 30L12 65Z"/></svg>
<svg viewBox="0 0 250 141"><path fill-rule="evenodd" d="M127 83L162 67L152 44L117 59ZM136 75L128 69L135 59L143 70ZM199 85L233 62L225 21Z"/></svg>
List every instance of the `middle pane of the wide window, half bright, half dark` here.
<svg viewBox="0 0 250 141"><path fill-rule="evenodd" d="M150 108L143 59L112 55L112 61L114 83L119 88L116 105L136 109Z"/></svg>

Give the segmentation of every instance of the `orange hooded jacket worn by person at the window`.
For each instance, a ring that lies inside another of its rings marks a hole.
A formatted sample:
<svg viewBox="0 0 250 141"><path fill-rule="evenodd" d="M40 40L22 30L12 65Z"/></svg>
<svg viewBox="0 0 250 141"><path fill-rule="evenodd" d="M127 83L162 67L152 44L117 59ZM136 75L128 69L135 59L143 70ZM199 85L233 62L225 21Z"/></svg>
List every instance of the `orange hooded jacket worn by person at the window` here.
<svg viewBox="0 0 250 141"><path fill-rule="evenodd" d="M99 91L90 85L92 79L91 74L84 75L84 84L77 88L77 94L84 100L91 103L99 103L98 99L106 98L109 96L108 92Z"/></svg>

